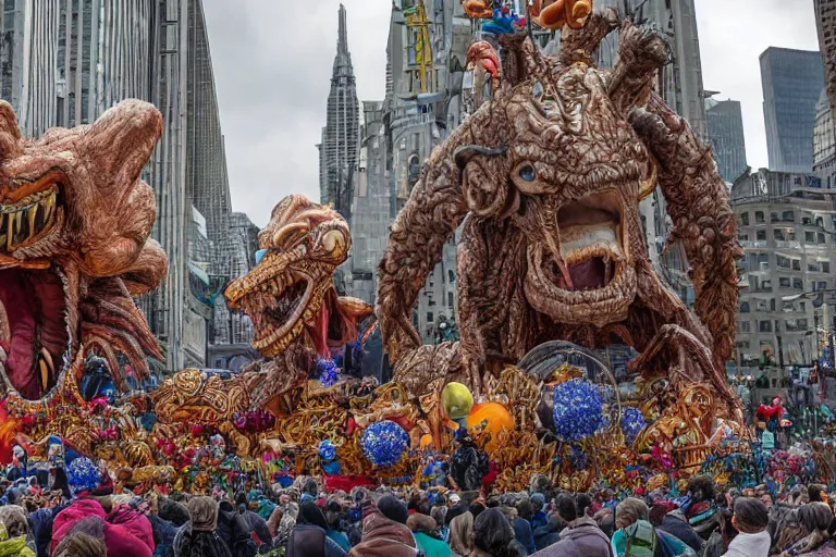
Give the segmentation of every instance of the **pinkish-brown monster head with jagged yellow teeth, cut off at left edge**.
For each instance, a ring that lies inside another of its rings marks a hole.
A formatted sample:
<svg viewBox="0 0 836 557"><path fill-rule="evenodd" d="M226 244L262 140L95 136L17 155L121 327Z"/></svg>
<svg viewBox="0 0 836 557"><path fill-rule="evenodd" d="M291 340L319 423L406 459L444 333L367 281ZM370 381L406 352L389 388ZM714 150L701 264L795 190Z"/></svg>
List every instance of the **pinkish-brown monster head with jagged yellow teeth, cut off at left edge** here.
<svg viewBox="0 0 836 557"><path fill-rule="evenodd" d="M162 133L151 104L130 100L91 125L21 137L0 102L0 391L42 400L84 350L119 356L140 379L161 358L133 301L168 261L149 239L153 190L140 180Z"/></svg>

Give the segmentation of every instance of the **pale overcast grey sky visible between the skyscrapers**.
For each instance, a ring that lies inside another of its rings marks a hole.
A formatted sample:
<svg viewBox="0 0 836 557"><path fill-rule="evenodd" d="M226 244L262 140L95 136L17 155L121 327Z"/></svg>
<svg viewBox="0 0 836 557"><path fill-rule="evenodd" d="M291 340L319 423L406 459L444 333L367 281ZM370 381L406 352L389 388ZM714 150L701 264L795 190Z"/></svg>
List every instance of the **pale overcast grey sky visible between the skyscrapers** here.
<svg viewBox="0 0 836 557"><path fill-rule="evenodd" d="M652 0L659 1L659 0ZM343 0L360 100L381 100L390 0ZM319 197L319 143L339 0L204 0L233 209L259 226L285 195ZM812 0L696 0L703 83L742 102L749 164L766 166L758 57L817 50Z"/></svg>

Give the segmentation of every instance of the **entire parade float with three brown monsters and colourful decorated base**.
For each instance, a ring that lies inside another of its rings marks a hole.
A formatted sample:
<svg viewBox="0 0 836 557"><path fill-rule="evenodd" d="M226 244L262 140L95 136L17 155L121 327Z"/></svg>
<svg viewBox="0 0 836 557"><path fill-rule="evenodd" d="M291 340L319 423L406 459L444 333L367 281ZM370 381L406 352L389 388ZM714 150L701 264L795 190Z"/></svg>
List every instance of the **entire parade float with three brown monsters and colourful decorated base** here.
<svg viewBox="0 0 836 557"><path fill-rule="evenodd" d="M526 21L465 3L495 29L469 52L485 98L392 225L377 308L334 288L345 220L302 196L275 206L258 263L225 289L261 359L225 377L186 369L132 387L161 358L134 301L168 268L140 180L160 113L125 101L26 139L0 103L0 458L49 469L84 455L119 485L193 493L300 474L332 487L450 475L468 490L652 488L757 469L724 371L735 219L711 148L654 90L668 47L588 0L542 4ZM534 46L532 24L563 28L558 55ZM618 62L599 70L592 52L616 30ZM656 188L693 310L648 255L639 203ZM413 308L457 230L460 341L423 345ZM393 369L384 384L330 359L372 331ZM627 389L600 357L614 344L638 354ZM114 396L82 392L91 368Z"/></svg>

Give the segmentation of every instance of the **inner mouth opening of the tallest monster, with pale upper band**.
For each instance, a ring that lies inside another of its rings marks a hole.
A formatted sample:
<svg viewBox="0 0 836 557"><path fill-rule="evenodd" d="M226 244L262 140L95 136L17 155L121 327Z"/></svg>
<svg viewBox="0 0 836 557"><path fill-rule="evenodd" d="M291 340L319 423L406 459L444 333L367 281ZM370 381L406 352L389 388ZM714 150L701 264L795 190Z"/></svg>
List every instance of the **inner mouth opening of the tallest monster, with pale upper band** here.
<svg viewBox="0 0 836 557"><path fill-rule="evenodd" d="M568 292L604 288L624 260L622 210L614 193L569 201L557 213L561 261L551 258L553 282Z"/></svg>

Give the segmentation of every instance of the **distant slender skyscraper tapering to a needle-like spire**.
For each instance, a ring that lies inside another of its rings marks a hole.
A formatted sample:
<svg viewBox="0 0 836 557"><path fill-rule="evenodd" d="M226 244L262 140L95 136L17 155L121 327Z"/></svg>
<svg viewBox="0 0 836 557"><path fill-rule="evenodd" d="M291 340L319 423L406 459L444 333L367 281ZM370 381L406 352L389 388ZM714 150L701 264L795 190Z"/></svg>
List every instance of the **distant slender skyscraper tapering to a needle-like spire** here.
<svg viewBox="0 0 836 557"><path fill-rule="evenodd" d="M328 96L328 119L320 147L320 195L351 222L352 176L357 162L359 103L348 52L345 7L340 4L340 33Z"/></svg>

